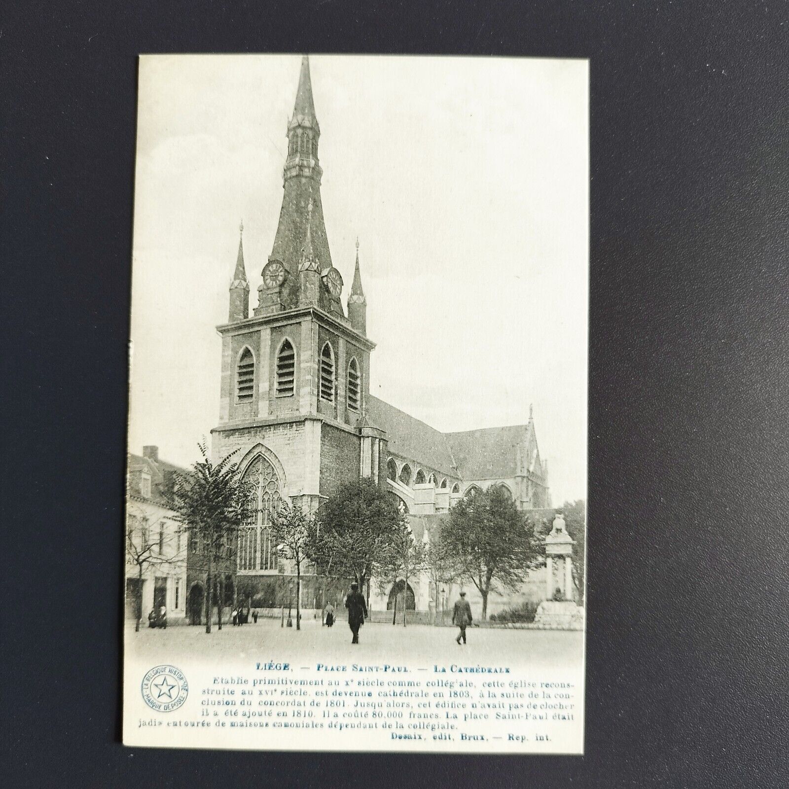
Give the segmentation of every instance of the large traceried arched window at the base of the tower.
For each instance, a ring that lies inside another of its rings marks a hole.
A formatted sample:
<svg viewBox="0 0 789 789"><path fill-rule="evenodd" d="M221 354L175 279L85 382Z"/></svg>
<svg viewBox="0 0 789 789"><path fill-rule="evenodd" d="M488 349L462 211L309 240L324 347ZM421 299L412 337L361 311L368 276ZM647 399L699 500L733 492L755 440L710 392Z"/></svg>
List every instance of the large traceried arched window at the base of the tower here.
<svg viewBox="0 0 789 789"><path fill-rule="evenodd" d="M271 544L271 514L279 506L279 477L274 466L258 455L242 481L252 486L249 521L238 530L238 569L276 570L277 552Z"/></svg>

